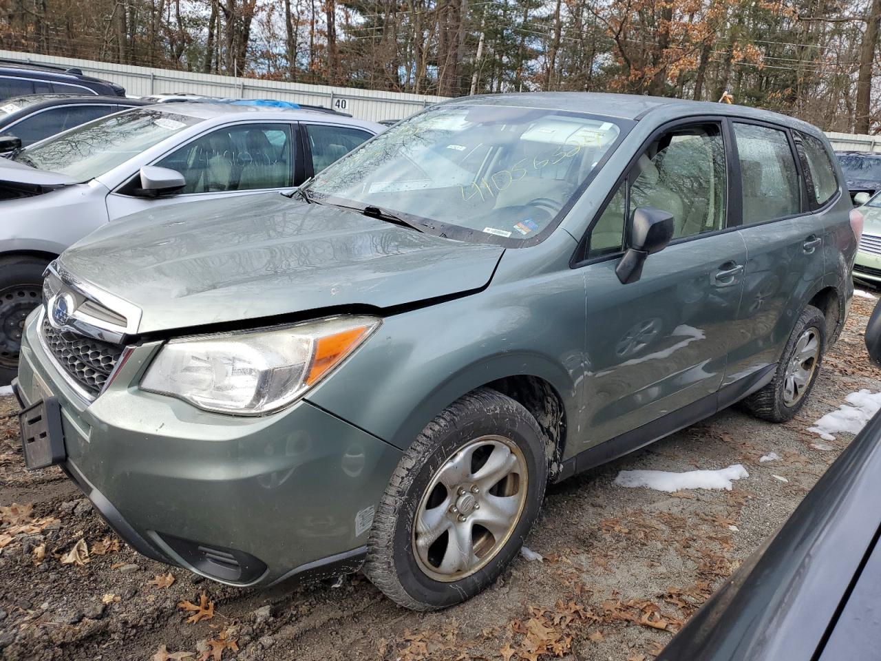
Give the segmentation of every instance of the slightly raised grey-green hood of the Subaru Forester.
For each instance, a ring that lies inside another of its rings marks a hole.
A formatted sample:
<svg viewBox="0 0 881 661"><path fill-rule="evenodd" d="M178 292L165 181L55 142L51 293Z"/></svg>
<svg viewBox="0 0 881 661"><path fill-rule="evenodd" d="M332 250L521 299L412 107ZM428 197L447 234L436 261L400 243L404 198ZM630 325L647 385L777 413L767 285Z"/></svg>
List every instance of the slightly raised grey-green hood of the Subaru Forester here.
<svg viewBox="0 0 881 661"><path fill-rule="evenodd" d="M137 213L59 264L140 308L137 332L149 333L463 293L490 281L503 252L267 193Z"/></svg>

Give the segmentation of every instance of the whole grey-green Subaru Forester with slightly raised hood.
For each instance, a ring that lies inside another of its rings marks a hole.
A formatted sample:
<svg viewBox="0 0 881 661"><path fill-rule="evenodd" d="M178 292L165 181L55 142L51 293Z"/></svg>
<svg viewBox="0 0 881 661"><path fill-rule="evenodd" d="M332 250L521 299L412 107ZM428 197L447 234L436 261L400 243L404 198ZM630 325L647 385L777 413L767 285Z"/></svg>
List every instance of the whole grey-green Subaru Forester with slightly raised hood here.
<svg viewBox="0 0 881 661"><path fill-rule="evenodd" d="M223 583L363 568L455 604L549 482L737 401L792 418L853 293L841 181L819 130L751 108L450 100L289 194L64 252L22 344L26 463Z"/></svg>

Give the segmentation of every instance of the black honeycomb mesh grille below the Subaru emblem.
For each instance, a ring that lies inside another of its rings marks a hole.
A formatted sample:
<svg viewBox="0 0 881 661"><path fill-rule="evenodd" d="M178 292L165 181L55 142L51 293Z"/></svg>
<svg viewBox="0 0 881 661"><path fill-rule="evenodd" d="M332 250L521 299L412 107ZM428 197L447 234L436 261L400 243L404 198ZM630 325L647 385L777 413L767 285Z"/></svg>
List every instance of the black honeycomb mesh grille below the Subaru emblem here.
<svg viewBox="0 0 881 661"><path fill-rule="evenodd" d="M61 368L86 392L97 397L122 355L122 345L102 342L71 331L56 331L43 319L43 339Z"/></svg>

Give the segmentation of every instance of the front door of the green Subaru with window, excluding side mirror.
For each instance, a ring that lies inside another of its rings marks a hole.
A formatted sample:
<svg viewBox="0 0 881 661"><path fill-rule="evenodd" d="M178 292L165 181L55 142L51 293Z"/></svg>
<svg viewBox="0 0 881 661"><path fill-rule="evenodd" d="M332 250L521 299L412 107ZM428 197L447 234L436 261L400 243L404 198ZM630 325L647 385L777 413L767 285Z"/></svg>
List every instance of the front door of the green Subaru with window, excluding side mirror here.
<svg viewBox="0 0 881 661"><path fill-rule="evenodd" d="M720 123L678 124L640 155L592 227L585 405L580 449L708 397L725 372L746 250L728 231L729 182ZM637 207L670 212L670 245L640 279L615 274Z"/></svg>

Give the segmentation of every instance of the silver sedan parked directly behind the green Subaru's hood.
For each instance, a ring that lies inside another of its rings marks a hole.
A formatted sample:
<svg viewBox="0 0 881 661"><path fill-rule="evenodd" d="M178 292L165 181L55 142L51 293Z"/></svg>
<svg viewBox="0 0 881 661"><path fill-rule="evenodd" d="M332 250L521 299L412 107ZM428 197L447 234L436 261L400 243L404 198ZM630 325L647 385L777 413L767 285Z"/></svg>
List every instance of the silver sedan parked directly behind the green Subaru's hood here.
<svg viewBox="0 0 881 661"><path fill-rule="evenodd" d="M167 204L291 190L383 129L309 110L163 103L0 159L0 384L14 375L46 265L74 241Z"/></svg>

